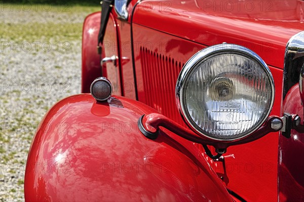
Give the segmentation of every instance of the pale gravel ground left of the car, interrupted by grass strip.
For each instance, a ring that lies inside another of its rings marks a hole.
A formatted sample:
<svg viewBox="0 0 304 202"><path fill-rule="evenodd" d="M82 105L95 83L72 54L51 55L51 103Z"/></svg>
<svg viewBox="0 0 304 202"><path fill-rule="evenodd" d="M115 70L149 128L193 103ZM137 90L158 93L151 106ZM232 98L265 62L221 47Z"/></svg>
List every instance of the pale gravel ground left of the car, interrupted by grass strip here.
<svg viewBox="0 0 304 202"><path fill-rule="evenodd" d="M82 23L87 14L2 8L0 19L11 27L32 22L62 25ZM81 30L77 34L59 44L52 37L35 39L40 42L37 48L1 36L0 201L24 201L25 164L37 124L59 99L80 93Z"/></svg>

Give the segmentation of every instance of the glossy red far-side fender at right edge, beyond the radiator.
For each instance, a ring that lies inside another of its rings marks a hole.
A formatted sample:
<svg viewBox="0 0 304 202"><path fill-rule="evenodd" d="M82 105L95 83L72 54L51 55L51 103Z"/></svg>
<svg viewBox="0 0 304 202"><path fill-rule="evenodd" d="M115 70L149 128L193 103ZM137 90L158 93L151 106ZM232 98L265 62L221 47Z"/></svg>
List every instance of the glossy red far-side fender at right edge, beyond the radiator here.
<svg viewBox="0 0 304 202"><path fill-rule="evenodd" d="M304 108L298 84L294 85L286 94L282 111L297 114L304 124ZM304 131L291 130L291 137L280 134L278 157L278 189L280 201L304 200Z"/></svg>

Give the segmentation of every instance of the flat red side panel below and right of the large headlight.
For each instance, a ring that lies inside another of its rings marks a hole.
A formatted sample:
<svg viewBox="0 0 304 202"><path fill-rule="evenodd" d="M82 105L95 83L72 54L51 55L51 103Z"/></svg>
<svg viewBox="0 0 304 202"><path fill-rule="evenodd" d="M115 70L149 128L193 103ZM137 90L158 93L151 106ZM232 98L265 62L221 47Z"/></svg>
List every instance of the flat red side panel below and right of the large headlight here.
<svg viewBox="0 0 304 202"><path fill-rule="evenodd" d="M271 115L280 116L283 70L269 66L275 82L275 102ZM227 149L224 162L213 162L215 172L226 186L248 201L276 201L278 136L270 133L244 145ZM203 148L202 148L203 149ZM208 159L208 158L207 158Z"/></svg>

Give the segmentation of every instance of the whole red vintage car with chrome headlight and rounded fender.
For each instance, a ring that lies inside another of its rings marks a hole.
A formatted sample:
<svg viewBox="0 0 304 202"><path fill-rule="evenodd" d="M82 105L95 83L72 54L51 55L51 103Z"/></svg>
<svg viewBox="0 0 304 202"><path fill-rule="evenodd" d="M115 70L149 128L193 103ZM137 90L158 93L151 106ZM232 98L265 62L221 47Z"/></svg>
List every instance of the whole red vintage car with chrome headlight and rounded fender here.
<svg viewBox="0 0 304 202"><path fill-rule="evenodd" d="M304 1L101 6L26 201L304 201Z"/></svg>

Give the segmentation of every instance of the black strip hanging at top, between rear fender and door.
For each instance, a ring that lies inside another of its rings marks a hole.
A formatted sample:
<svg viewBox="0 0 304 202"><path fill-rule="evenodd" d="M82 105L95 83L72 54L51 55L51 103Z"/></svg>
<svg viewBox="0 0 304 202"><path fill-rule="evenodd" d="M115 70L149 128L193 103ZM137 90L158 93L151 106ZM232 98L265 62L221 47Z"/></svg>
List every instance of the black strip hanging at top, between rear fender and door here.
<svg viewBox="0 0 304 202"><path fill-rule="evenodd" d="M110 12L113 7L114 0L103 0L101 2L101 19L100 19L100 29L98 33L98 54L101 54L101 46L105 33L106 24L109 20Z"/></svg>

